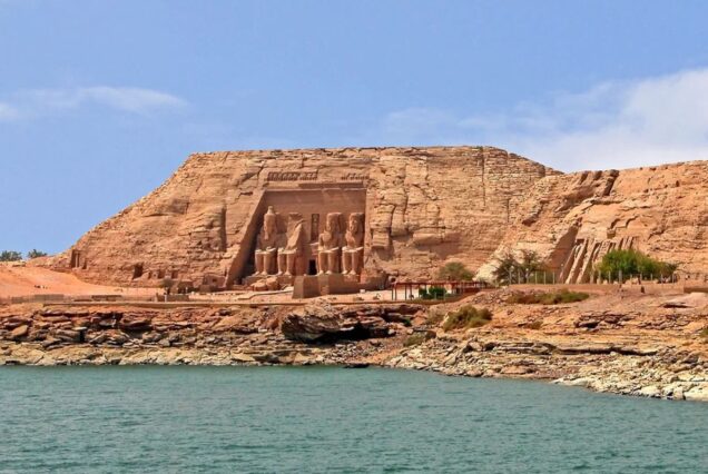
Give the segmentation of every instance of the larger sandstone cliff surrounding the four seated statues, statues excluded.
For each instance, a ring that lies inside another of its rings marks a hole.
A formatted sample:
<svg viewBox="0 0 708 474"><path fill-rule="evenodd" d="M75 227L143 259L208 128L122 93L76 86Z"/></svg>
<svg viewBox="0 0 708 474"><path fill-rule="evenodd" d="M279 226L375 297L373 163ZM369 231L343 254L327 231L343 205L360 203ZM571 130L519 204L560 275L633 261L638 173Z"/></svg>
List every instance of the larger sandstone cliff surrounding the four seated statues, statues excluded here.
<svg viewBox="0 0 708 474"><path fill-rule="evenodd" d="M229 286L256 270L257 234L274 206L299 213L314 243L327 214L362 215L364 277L427 277L451 259L479 267L531 186L557 174L491 147L196 154L47 265L101 284Z"/></svg>

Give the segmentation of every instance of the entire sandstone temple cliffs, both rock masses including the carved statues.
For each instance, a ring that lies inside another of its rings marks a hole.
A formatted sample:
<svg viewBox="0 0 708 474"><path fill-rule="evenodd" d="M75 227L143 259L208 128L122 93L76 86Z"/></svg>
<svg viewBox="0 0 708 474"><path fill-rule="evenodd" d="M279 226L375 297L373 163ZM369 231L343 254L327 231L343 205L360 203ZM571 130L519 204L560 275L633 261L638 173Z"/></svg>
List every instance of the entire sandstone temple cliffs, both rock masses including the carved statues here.
<svg viewBox="0 0 708 474"><path fill-rule="evenodd" d="M489 277L496 256L529 249L583 283L613 248L705 271L707 230L707 161L562 175L492 147L223 151L191 155L48 265L306 295L427 279L446 261Z"/></svg>

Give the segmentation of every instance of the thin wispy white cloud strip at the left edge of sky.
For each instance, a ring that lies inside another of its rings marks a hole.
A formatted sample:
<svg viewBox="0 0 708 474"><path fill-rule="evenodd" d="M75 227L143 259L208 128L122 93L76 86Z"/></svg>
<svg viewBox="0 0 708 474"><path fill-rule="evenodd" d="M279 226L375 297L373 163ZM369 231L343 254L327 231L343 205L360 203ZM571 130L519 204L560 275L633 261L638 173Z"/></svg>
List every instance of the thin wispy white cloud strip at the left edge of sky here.
<svg viewBox="0 0 708 474"><path fill-rule="evenodd" d="M14 121L55 115L81 107L106 107L124 112L149 115L178 109L187 102L151 89L96 86L73 89L30 89L0 102L0 121Z"/></svg>

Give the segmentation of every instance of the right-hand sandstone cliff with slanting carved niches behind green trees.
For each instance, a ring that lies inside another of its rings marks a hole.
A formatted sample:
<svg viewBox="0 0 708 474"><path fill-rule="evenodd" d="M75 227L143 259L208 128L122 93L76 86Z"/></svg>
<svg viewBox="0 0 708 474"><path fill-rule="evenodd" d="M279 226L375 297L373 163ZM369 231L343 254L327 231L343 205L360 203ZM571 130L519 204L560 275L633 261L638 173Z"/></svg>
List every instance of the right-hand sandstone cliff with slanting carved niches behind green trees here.
<svg viewBox="0 0 708 474"><path fill-rule="evenodd" d="M594 263L625 248L677 263L685 274L708 268L708 161L538 181L480 276L491 278L508 250L533 250L558 280L587 283Z"/></svg>

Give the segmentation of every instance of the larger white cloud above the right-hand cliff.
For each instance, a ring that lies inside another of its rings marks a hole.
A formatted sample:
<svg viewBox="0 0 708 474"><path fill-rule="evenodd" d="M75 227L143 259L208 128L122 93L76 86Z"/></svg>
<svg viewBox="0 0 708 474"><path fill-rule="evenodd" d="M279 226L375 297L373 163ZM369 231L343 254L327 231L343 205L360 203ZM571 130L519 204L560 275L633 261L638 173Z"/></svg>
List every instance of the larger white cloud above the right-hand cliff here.
<svg viewBox="0 0 708 474"><path fill-rule="evenodd" d="M401 110L382 129L387 141L496 145L567 171L708 159L708 69L606 82L491 116Z"/></svg>

